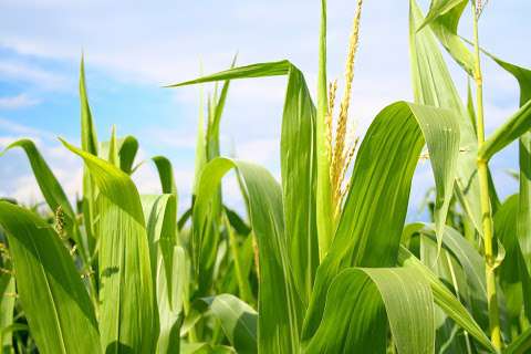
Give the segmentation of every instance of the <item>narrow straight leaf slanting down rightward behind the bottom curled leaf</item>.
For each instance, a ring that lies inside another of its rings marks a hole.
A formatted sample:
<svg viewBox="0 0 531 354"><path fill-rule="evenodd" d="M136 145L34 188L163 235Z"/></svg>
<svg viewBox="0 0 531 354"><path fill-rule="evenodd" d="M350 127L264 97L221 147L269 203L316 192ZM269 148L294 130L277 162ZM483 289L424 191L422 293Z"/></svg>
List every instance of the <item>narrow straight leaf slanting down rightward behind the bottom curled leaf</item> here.
<svg viewBox="0 0 531 354"><path fill-rule="evenodd" d="M404 268L414 268L429 282L435 303L457 324L466 330L479 343L492 353L496 352L487 335L476 323L467 309L456 299L448 288L405 247L400 246L397 263Z"/></svg>

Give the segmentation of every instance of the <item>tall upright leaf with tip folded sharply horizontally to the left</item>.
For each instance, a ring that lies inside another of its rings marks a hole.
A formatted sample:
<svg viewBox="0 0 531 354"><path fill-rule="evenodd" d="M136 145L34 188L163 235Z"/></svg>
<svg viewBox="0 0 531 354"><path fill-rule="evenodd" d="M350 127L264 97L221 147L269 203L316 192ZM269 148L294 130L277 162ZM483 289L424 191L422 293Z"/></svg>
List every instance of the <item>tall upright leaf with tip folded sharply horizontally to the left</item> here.
<svg viewBox="0 0 531 354"><path fill-rule="evenodd" d="M204 82L288 75L281 136L285 233L299 296L308 303L319 264L316 232L315 107L304 76L289 61L236 67L171 87ZM195 256L196 258L197 254Z"/></svg>

